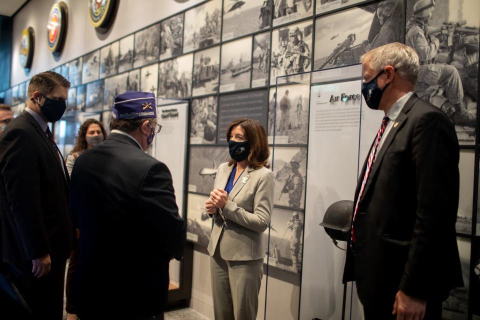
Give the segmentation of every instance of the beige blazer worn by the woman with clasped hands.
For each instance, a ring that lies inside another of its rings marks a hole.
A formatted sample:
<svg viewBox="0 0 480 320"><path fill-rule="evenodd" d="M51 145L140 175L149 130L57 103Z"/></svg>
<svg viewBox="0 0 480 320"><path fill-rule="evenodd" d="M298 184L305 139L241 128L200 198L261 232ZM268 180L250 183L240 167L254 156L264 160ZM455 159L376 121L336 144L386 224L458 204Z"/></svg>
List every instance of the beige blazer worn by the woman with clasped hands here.
<svg viewBox="0 0 480 320"><path fill-rule="evenodd" d="M233 165L218 166L214 188L224 189ZM208 253L219 245L224 260L256 260L265 256L263 231L270 223L274 194L273 172L266 167L246 167L236 181L223 209L213 214ZM221 240L219 240L221 238Z"/></svg>

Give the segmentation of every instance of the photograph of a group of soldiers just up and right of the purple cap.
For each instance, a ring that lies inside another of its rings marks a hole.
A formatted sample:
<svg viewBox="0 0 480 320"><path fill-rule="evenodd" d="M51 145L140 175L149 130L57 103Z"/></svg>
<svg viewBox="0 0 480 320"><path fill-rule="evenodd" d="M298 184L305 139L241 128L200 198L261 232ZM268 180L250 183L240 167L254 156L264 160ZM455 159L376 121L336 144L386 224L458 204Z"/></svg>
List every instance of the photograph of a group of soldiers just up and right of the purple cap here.
<svg viewBox="0 0 480 320"><path fill-rule="evenodd" d="M158 97L186 98L191 95L193 53L160 62L158 66Z"/></svg>

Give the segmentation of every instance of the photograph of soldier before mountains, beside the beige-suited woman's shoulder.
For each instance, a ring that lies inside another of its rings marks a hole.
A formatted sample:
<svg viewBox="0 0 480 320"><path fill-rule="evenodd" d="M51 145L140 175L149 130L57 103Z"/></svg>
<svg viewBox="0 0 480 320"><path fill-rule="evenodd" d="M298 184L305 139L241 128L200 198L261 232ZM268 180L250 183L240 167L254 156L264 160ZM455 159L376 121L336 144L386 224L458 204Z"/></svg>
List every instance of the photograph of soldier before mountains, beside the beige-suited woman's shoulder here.
<svg viewBox="0 0 480 320"><path fill-rule="evenodd" d="M305 202L306 147L276 146L273 154L276 205L303 209Z"/></svg>

